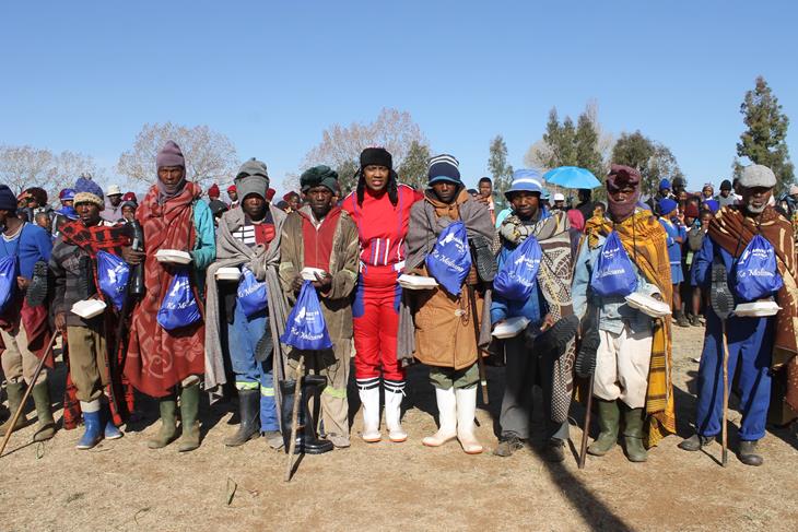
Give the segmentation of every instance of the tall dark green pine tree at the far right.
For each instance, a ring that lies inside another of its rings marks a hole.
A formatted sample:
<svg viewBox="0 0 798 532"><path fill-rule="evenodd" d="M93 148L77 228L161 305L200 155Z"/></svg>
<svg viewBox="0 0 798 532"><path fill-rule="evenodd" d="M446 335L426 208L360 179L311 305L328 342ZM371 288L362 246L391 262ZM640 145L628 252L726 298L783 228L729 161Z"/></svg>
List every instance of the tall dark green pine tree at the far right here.
<svg viewBox="0 0 798 532"><path fill-rule="evenodd" d="M756 78L753 91L746 93L740 113L748 129L737 143L737 155L770 167L778 180L777 190L791 185L795 181L795 168L785 140L789 118L782 113L778 98L761 75Z"/></svg>

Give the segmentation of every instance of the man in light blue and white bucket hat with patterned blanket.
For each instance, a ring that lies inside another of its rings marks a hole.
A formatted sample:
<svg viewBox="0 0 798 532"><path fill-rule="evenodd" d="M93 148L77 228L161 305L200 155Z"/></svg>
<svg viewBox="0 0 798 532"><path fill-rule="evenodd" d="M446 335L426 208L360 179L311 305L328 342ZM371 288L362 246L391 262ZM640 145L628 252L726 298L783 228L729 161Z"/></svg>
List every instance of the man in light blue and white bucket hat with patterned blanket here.
<svg viewBox="0 0 798 532"><path fill-rule="evenodd" d="M545 331L564 314L573 314L571 234L564 211L549 212L540 205L541 184L535 177L537 174L529 172L516 172L509 190L505 192L513 212L504 218L498 230L502 243L498 268L501 271L511 253L530 237L538 240L544 256L532 296L528 299L507 299L494 286L491 322L495 327L507 318L525 317L532 328ZM551 356L540 350L530 350L526 344L526 335L520 333L505 340L504 348L507 368L498 418L502 433L494 454L508 457L521 449L524 440L530 438L532 389L537 382L543 391L547 440L543 458L562 462L568 439L571 367L575 355L573 343L567 344L566 353Z"/></svg>

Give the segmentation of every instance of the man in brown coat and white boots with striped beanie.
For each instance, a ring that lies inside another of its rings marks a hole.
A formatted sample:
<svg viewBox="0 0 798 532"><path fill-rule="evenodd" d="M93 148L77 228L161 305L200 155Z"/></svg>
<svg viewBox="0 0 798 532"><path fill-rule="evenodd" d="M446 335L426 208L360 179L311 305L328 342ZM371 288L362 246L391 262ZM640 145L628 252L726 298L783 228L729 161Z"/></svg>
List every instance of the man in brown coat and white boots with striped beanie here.
<svg viewBox="0 0 798 532"><path fill-rule="evenodd" d="M408 259L406 271L426 275L424 260L441 233L451 223L461 221L469 239L493 239L494 228L484 203L468 193L460 179L458 162L451 155L438 155L430 162L430 188L424 200L410 211ZM469 305L468 288L474 287L477 315ZM409 291L408 291L409 292ZM406 294L408 293L406 292ZM408 295L400 312L399 355L413 351L413 356L430 366L430 380L435 388L439 414L439 430L423 439L427 447L439 447L457 438L469 454L482 452L473 434L477 388L480 381L478 357L480 347L490 343L491 289L480 282L471 268L460 294L453 296L438 286ZM480 324L480 338L474 334L472 320ZM414 331L414 339L408 334ZM409 346L414 345L414 350Z"/></svg>

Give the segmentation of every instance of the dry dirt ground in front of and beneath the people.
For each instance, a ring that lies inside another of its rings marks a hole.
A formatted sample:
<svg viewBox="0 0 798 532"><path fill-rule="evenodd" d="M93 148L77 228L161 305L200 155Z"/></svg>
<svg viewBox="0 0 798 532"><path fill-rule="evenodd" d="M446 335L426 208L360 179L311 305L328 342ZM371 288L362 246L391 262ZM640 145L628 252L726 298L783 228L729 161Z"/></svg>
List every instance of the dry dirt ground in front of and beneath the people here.
<svg viewBox="0 0 798 532"><path fill-rule="evenodd" d="M674 334L680 435L666 438L644 464L630 463L617 447L605 458L589 457L579 471L580 405L572 407L572 452L564 463L542 461L535 450L541 441L511 458L494 457L503 368L489 368L490 406L478 411L488 452L466 456L457 442L425 448L421 438L435 430L436 407L424 368L413 367L407 442L362 442L357 414L352 447L304 457L287 484L285 454L263 439L224 447L222 439L236 429L232 403L203 405L202 446L188 454L174 445L146 448L157 430L152 402L143 403L143 417L122 439L91 451L74 449L82 430L61 430L36 445L28 427L0 459L0 530L798 530L794 431L768 433L761 468L734 454L720 468L718 444L707 452L677 448L691 433L692 358L703 330L676 328ZM62 374L54 378L61 380ZM735 425L739 417L731 413Z"/></svg>

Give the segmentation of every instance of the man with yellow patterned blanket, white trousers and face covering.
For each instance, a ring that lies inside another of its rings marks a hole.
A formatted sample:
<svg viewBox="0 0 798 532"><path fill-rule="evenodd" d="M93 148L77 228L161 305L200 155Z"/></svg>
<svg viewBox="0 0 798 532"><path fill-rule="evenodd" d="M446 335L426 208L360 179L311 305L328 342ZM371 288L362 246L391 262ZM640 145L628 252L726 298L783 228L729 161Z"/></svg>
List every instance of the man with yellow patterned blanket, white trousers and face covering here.
<svg viewBox="0 0 798 532"><path fill-rule="evenodd" d="M584 318L588 305L598 312L598 327L592 328L598 336L592 381L601 433L588 452L600 457L615 446L623 414L626 457L645 462L647 447L676 433L670 318L654 320L620 295L599 296L592 289L592 272L605 241L615 232L632 263L636 291L670 302L667 235L639 204L636 169L612 165L606 185L609 217L595 215L587 221L573 286L575 314ZM586 340L583 335L583 342Z"/></svg>

